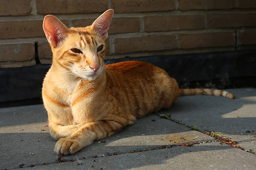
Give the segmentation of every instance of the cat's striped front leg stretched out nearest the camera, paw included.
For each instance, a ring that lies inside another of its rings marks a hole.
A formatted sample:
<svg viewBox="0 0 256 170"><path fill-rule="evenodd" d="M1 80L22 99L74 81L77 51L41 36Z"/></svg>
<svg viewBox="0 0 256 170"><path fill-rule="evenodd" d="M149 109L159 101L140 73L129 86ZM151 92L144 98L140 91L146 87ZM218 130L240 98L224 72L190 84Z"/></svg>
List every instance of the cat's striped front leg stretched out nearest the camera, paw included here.
<svg viewBox="0 0 256 170"><path fill-rule="evenodd" d="M129 121L123 119L99 120L88 122L67 138L61 138L55 145L57 154L74 154L94 140L108 137L127 126Z"/></svg>

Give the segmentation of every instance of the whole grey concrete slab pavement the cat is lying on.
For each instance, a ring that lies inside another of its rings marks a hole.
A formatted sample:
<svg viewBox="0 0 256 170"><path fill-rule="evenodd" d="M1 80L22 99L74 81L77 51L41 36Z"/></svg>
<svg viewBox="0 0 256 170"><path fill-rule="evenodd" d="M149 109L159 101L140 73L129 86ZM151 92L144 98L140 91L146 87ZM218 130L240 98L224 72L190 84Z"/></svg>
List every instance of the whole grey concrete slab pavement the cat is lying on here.
<svg viewBox="0 0 256 170"><path fill-rule="evenodd" d="M256 89L246 88L229 91L235 95L235 100L215 96L179 97L171 108L162 110L156 114L171 114L173 120L182 120L181 123L189 126L197 125L197 128L201 132L213 131L224 133L226 135L220 135L229 137L231 140L237 140L238 145L241 145L244 149L253 148L255 151L255 143L252 143L252 141L256 142L256 138L253 137L253 135L256 135ZM252 161L252 158L255 160L256 155L228 145L212 143L212 141L215 141L214 138L198 131L190 130L184 125L179 125L167 119L161 119L154 114L136 120L134 125L108 138L102 139L101 143L96 141L80 152L63 158L64 160L78 160L78 162L56 164L58 156L53 152L56 141L50 137L48 133L49 129L45 127L46 125L47 113L43 105L0 109L0 169L19 168L19 165L23 165L22 167L26 168L31 164L42 169L48 169L47 166L51 166L49 169L58 169L61 165L67 167L70 165L70 169L79 169L80 167L85 168L80 165L77 167L80 164L79 161L89 161L88 163L82 163L82 165L88 166L90 165L90 161L93 161L92 158L94 156L99 157L114 154L117 156L97 158L99 160L102 159L102 162L98 161L100 162L99 165L102 168L110 167L110 169L115 169L115 165L123 161L123 165L125 166L120 164L116 166L116 169L156 169L158 167L160 169L173 167L174 169L221 169L225 167L231 167L230 169L255 169L255 161ZM199 137L195 140L180 139L195 138L197 136ZM161 155L167 154L161 153L165 152L164 150L151 150L163 145L180 145L182 143L197 142L200 144L196 146L202 147L198 147L198 150L192 151L194 155L191 155L190 152L182 153L181 149L194 147L166 149L172 151L168 153L168 158L170 155L173 155L169 162L167 161L168 159L165 160L161 157ZM211 143L205 144L205 142ZM136 157L136 153L128 154L129 152L147 149L151 151L139 153L148 153L148 161L145 160L144 162L149 162L149 165L140 162L141 157ZM214 151L217 158L211 159L211 153L204 155L206 151ZM154 153L158 156L154 157ZM229 153L232 154L230 155ZM248 154L250 156L247 156ZM125 157L120 158L119 162L118 160L111 160L112 158L119 158L120 155L124 155ZM197 159L193 160L193 156L199 158L199 161ZM241 158L241 160L238 158ZM233 160L233 164L231 160ZM40 167L43 163L47 165ZM75 165L75 163L78 164ZM192 163L196 164L191 165ZM108 164L111 165L106 166ZM241 166L242 164L243 166ZM207 165L211 166L207 167ZM216 167L215 165L218 166Z"/></svg>

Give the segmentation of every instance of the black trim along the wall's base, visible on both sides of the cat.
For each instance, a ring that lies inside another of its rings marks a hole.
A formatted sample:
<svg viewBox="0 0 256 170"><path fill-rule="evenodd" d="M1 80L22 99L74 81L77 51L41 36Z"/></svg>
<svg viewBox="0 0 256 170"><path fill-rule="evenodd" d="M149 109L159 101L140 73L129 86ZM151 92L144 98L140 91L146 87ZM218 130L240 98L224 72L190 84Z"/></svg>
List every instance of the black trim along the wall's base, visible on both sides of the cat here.
<svg viewBox="0 0 256 170"><path fill-rule="evenodd" d="M110 63L125 60L141 60L161 67L182 88L256 87L256 50L126 57L110 60ZM41 85L49 68L50 65L36 64L31 67L0 69L0 102L18 103L27 100L26 105L39 104Z"/></svg>

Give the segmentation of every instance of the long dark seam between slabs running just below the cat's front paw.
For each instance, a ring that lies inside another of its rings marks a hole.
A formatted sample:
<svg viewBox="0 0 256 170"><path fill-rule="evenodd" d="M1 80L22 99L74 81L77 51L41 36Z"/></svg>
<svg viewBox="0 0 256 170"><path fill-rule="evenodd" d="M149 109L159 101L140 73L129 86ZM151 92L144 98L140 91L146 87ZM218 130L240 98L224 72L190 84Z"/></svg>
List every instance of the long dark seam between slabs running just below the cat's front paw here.
<svg viewBox="0 0 256 170"><path fill-rule="evenodd" d="M83 158L77 158L77 159L69 159L66 160L64 159L64 155L61 154L59 155L58 159L56 159L56 162L51 162L51 163L37 163L37 164L33 164L33 163L29 163L27 165L25 164L20 164L19 168L11 168L11 169L0 169L0 170L15 170L15 169L20 169L20 168L33 168L36 166L41 166L41 165L49 165L49 164L58 164L58 163L67 163L67 162L75 162L78 160L86 160L86 159L91 159L91 158L101 158L101 157L109 157L109 156L115 156L115 155L122 155L122 154L130 154L130 153L138 153L138 152L147 152L147 151L151 151L151 150L161 150L161 149L169 149L169 148L174 148L174 147L193 147L194 145L199 145L202 143L212 143L212 142L218 142L217 140L208 140L205 142L197 142L197 143L183 143L183 144L179 144L179 145L163 145L163 146L159 146L157 148L150 148L150 149L143 149L143 150L133 150L133 151L129 151L129 152L124 152L124 153L109 153L108 155L95 155L93 157L83 157ZM79 163L78 163L79 164Z"/></svg>

